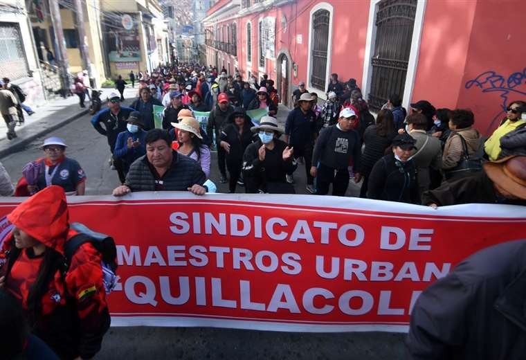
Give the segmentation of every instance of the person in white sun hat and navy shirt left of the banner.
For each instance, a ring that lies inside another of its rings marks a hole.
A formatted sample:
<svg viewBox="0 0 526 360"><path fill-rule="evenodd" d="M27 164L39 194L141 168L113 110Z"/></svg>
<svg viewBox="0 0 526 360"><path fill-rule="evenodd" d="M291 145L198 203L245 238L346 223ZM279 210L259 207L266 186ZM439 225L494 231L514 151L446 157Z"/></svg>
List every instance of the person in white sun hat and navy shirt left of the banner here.
<svg viewBox="0 0 526 360"><path fill-rule="evenodd" d="M57 185L66 195L84 195L86 174L76 160L66 157L66 147L62 138L46 138L41 146L46 156L24 166L26 172L28 168L35 170L33 176L26 179L30 194Z"/></svg>

